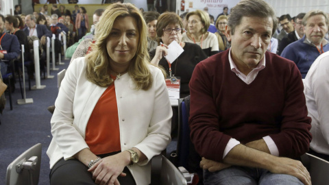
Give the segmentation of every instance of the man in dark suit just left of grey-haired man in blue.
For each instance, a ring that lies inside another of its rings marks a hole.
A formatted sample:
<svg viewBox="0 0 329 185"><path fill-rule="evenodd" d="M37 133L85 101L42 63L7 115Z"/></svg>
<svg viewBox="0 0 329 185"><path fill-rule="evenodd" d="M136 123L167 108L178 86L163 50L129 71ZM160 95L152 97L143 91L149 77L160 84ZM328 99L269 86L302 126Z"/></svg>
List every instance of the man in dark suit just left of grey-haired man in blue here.
<svg viewBox="0 0 329 185"><path fill-rule="evenodd" d="M303 18L305 13L300 13L295 16L295 22L293 23L293 27L295 28L294 32L290 32L287 37L282 38L280 46L278 47L278 55L280 56L283 49L290 45L292 42L300 40L304 36L304 25Z"/></svg>

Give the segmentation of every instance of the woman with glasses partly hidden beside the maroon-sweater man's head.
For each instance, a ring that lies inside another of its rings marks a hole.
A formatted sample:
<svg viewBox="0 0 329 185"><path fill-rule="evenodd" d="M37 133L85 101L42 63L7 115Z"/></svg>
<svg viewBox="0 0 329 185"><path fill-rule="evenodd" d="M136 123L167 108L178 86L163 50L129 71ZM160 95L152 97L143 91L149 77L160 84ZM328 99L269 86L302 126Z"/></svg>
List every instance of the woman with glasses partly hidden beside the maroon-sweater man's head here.
<svg viewBox="0 0 329 185"><path fill-rule="evenodd" d="M227 24L228 24L228 16L221 15L217 18L216 21L217 32L215 33L215 36L217 36L219 51L225 51L230 47L230 44L228 43L228 38L226 38L225 35L225 29Z"/></svg>

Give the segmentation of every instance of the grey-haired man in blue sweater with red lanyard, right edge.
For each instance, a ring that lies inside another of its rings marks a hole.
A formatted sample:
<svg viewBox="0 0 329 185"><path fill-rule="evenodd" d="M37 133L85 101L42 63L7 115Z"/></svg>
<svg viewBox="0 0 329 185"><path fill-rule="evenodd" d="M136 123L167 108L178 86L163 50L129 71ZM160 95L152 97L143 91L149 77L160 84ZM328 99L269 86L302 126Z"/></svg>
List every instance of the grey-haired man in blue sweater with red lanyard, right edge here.
<svg viewBox="0 0 329 185"><path fill-rule="evenodd" d="M308 69L321 53L329 51L328 40L324 38L328 32L329 19L321 10L311 10L303 18L305 36L291 43L281 56L293 60L305 78Z"/></svg>

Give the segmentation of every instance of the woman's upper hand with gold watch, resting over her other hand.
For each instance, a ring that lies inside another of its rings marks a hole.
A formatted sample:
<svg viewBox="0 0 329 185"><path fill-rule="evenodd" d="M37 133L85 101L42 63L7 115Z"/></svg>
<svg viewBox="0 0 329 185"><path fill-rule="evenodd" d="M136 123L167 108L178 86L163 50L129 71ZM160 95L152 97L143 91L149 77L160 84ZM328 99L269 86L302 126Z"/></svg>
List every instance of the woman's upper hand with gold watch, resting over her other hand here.
<svg viewBox="0 0 329 185"><path fill-rule="evenodd" d="M117 177L119 175L125 177L126 174L122 171L128 164L130 164L130 153L123 151L99 160L88 171L93 173L96 184L119 185Z"/></svg>

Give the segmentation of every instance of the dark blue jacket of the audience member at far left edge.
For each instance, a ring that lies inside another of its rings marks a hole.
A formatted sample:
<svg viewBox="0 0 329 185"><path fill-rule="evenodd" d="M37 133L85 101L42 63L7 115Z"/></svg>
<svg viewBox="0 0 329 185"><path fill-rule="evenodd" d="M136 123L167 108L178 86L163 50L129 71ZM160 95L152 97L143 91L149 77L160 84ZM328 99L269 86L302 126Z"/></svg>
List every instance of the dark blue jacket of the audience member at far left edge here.
<svg viewBox="0 0 329 185"><path fill-rule="evenodd" d="M0 34L0 37L4 33ZM19 56L21 49L19 47L19 39L15 35L5 34L0 43L2 50L7 51L4 55L4 60L12 60Z"/></svg>

